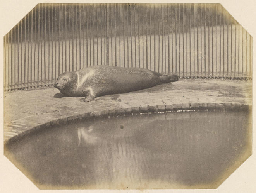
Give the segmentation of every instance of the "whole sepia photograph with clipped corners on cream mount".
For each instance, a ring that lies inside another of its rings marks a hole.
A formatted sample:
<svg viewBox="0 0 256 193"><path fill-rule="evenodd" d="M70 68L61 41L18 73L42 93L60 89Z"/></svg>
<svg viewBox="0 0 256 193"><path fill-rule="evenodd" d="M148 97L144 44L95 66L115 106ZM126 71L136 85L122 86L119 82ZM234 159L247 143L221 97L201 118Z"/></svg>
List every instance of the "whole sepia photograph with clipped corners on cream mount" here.
<svg viewBox="0 0 256 193"><path fill-rule="evenodd" d="M217 189L253 153L241 22L222 3L35 4L2 37L3 156L41 190Z"/></svg>

